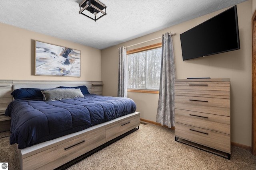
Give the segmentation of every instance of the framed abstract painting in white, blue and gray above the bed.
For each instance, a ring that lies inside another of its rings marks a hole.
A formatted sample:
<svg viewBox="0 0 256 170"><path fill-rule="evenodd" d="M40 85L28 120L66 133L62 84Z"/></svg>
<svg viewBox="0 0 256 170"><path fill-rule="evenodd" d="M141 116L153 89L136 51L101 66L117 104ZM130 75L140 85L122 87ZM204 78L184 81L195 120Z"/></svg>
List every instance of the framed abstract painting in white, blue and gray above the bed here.
<svg viewBox="0 0 256 170"><path fill-rule="evenodd" d="M81 51L35 40L35 75L81 76Z"/></svg>

